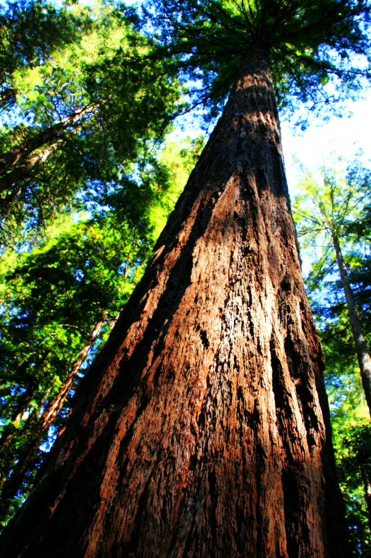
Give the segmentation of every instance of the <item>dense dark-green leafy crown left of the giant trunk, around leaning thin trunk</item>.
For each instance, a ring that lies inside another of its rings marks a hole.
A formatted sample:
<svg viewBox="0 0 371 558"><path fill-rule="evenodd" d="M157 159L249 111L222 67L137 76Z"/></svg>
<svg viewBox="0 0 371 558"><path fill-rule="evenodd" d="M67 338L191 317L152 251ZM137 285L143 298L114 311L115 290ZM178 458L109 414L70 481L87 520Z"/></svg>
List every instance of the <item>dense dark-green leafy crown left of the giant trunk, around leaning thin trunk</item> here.
<svg viewBox="0 0 371 558"><path fill-rule="evenodd" d="M118 223L110 212L104 219L70 223L45 246L20 256L5 274L0 322L0 414L7 435L1 448L3 482L27 451L42 410L54 400L102 320L106 326L94 352L105 340L109 324L141 275L151 244L148 227ZM42 455L40 451L33 460L18 499L29 491Z"/></svg>

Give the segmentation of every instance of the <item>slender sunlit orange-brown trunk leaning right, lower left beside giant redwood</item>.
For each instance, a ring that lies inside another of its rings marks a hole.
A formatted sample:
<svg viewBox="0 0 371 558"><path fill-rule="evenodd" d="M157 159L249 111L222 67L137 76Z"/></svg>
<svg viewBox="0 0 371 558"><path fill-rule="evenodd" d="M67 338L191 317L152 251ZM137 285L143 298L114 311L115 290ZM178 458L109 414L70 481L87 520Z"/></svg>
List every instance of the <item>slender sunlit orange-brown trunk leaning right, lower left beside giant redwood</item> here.
<svg viewBox="0 0 371 558"><path fill-rule="evenodd" d="M73 386L77 372L79 372L81 364L86 359L86 356L88 355L88 352L97 338L97 335L100 333L103 325L104 321L97 322L88 341L84 345L84 348L81 349L78 358L74 362L67 379L59 390L58 395L56 395L54 400L47 405L44 412L40 416L36 430L33 430L31 433L31 442L27 446L26 451L24 451L22 456L17 461L13 474L3 485L3 489L1 490L1 499L15 498L15 495L24 481L24 476L31 468L40 444L45 439L47 431L54 422L58 412L60 412L63 407L63 403L68 397L68 393L70 393L70 389Z"/></svg>

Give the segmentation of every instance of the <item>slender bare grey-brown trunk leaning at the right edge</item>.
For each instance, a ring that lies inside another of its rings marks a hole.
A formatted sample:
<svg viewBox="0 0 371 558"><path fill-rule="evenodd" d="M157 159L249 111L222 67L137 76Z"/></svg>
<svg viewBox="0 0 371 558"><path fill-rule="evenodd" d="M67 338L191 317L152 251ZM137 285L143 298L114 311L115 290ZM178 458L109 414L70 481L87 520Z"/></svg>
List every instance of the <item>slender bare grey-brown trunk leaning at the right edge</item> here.
<svg viewBox="0 0 371 558"><path fill-rule="evenodd" d="M332 234L332 239L336 252L336 259L338 261L342 288L344 289L345 299L347 301L349 322L352 327L354 344L356 345L356 353L359 369L361 370L363 390L365 391L365 397L371 415L371 359L368 354L365 336L363 335L361 321L359 319L356 303L354 301L352 287L350 286L347 268L345 267L344 259L342 258L340 244L335 234Z"/></svg>

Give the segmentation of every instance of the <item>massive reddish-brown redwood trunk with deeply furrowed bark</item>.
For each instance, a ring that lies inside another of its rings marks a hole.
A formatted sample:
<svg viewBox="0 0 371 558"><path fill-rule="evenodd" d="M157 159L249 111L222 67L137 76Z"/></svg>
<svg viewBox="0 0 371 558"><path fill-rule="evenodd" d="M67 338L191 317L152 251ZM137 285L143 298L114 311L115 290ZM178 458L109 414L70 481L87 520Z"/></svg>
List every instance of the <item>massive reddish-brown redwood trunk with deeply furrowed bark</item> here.
<svg viewBox="0 0 371 558"><path fill-rule="evenodd" d="M347 557L322 368L256 50L0 556Z"/></svg>

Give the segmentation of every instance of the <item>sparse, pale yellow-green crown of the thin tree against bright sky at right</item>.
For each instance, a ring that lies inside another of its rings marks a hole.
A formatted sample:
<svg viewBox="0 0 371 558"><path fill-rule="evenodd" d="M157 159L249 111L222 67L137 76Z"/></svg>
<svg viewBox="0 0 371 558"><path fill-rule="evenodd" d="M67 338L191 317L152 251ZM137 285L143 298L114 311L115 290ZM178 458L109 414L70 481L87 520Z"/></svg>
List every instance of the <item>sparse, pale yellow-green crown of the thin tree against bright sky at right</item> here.
<svg viewBox="0 0 371 558"><path fill-rule="evenodd" d="M370 204L370 172L358 163L343 169L341 160L333 160L331 168L322 167L316 173L302 170L297 184L298 193L292 204L297 234L312 267L307 278L310 292L322 289L325 280L333 297L333 310L337 307L338 289L336 254L333 237L338 239L343 256L352 269L365 249L360 237L350 234L349 226L361 222L365 208ZM337 277L337 276L336 276Z"/></svg>

